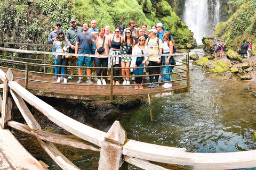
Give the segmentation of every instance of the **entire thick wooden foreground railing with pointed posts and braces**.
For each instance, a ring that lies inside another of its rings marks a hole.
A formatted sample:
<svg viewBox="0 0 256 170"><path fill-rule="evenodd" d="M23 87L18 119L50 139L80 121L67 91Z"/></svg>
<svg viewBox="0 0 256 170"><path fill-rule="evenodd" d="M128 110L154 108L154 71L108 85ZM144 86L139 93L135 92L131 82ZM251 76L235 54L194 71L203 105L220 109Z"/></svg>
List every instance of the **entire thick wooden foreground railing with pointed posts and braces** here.
<svg viewBox="0 0 256 170"><path fill-rule="evenodd" d="M100 151L100 170L117 170L123 162L142 169L166 169L151 162L189 165L194 169L238 169L256 167L256 150L227 153L190 153L184 148L153 145L127 139L122 125L115 121L109 131L102 132L56 111L52 106L32 95L13 80L11 69L0 70L3 81L3 98L0 98L1 126L34 135L42 148L62 169L79 169L53 145L58 143L71 147ZM43 131L29 111L25 101L44 114L49 120L76 137ZM13 102L19 108L26 123L12 120ZM151 162L149 162L151 161Z"/></svg>

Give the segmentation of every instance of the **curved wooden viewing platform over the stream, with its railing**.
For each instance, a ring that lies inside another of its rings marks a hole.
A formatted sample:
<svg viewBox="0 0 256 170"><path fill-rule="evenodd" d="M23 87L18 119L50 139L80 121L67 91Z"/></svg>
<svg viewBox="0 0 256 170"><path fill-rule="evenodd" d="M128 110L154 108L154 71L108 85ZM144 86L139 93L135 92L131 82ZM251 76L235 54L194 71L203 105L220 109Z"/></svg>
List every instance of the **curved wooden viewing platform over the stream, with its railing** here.
<svg viewBox="0 0 256 170"><path fill-rule="evenodd" d="M107 85L97 85L97 82L94 84L86 84L85 80L82 84L76 84L78 80L78 75L74 75L75 78L69 80L67 84L57 83L56 80L53 80L52 77L54 73L49 72L52 70L55 65L52 60L46 60L48 56L54 55L63 55L63 53L52 53L46 52L47 45L36 45L36 44L22 44L22 43L9 43L9 45L19 45L19 46L41 46L44 48L44 51L37 50L24 50L24 49L14 49L14 48L2 48L0 51L3 51L6 55L0 55L1 68L3 71L7 71L10 67L14 74L14 81L18 82L22 87L30 91L34 95L47 96L47 97L56 97L56 98L68 98L68 99L82 99L82 100L123 100L123 99L142 99L150 97L161 97L166 95L179 94L181 92L189 92L189 58L188 53L177 53L172 54L174 57L183 55L186 57L186 62L177 61L175 70L172 74L175 79L172 81L172 88L164 89L160 83L158 88L148 88L149 81L143 80L143 90L134 90L135 84L127 85L116 85L113 84L114 78L122 78L122 76L115 77L113 73L113 63L111 65L110 75L107 77L103 76L91 76L92 78L110 78L110 82L107 82ZM8 54L9 53L9 54ZM15 54L20 54L22 57L17 57ZM66 54L73 56L90 56L95 57L95 55L88 54ZM162 56L165 56L163 54ZM169 54L167 54L169 55ZM123 55L124 56L124 55ZM127 55L128 56L128 55ZM131 56L131 55L129 55ZM134 57L135 55L133 55ZM140 55L141 56L141 55ZM155 55L144 55L144 56L155 56ZM118 57L118 55L110 55L109 57ZM113 60L112 60L113 61ZM67 66L78 68L78 66ZM146 66L148 68L149 66ZM160 66L158 66L160 67ZM184 68L185 67L185 68ZM100 67L83 67L83 69L88 68L100 68ZM103 68L103 67L101 67ZM118 68L118 67L115 67ZM133 67L130 67L133 68ZM109 69L109 68L108 68ZM122 69L122 67L119 67ZM61 74L64 75L64 74ZM154 74L156 75L156 74ZM161 75L161 74L158 74ZM145 76L145 75L143 75ZM87 77L82 75L82 77ZM139 76L130 76L140 77ZM106 79L107 80L107 79ZM132 82L132 81L131 81ZM157 82L156 82L157 83Z"/></svg>

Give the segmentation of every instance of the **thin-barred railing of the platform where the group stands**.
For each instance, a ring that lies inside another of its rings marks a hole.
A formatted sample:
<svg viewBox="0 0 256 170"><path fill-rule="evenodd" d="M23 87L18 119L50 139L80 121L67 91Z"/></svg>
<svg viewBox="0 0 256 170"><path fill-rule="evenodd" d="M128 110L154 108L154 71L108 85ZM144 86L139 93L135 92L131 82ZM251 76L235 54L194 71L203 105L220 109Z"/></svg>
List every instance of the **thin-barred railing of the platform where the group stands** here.
<svg viewBox="0 0 256 170"><path fill-rule="evenodd" d="M12 43L14 44L14 43ZM21 43L17 43L17 45L22 45ZM23 45L28 45L28 44L23 44ZM39 45L38 45L39 46ZM43 55L44 58L44 64L37 64L37 63L31 63L31 62L24 62L24 61L15 61L15 60L6 60L6 59L3 59L3 58L0 58L0 61L1 62L6 62L6 63L12 63L12 64L19 64L19 65L26 65L26 69L23 70L26 72L26 77L25 78L19 78L19 79L25 79L25 88L27 89L28 87L28 81L38 81L38 80L33 80L33 79L28 79L28 73L41 73L41 72L35 72L35 71L30 71L29 70L29 67L31 66L38 66L38 67L44 67L44 73L43 74L50 74L50 75L55 75L54 73L45 73L46 72L46 69L47 67L54 67L56 65L51 65L51 64L46 64L46 55L72 55L72 56L89 56L89 57L97 57L97 55L89 55L89 54L69 54L69 53L52 53L52 52L45 52L45 46L44 46L44 51L35 51L35 50L23 50L23 49L14 49L14 48L2 48L0 47L0 51L4 51L4 52L12 52L12 53L23 53L23 54L35 54L35 55ZM179 82L179 81L186 81L186 91L189 92L189 54L188 53L176 53L176 54L155 54L155 55L109 55L109 57L111 58L111 68L109 67L79 67L79 66L63 66L63 67L74 67L74 68L83 68L83 69L99 69L99 68L102 68L102 69L110 69L110 75L108 75L107 77L104 77L104 76L97 76L97 75L93 75L93 76L90 76L92 78L110 78L110 84L107 84L107 85L104 85L104 86L110 86L109 88L109 100L112 101L113 100L113 87L114 86L126 86L126 85L116 85L116 84L113 84L113 80L114 78L123 78L123 77L144 77L145 75L130 75L130 76L114 76L114 69L124 69L123 67L115 67L114 68L114 64L113 64L113 58L114 57L137 57L137 56L180 56L180 55L185 55L186 56L186 62L182 62L182 61L177 61L178 64L176 65L172 65L172 66L175 66L175 68L179 71L175 71L175 72L172 72L172 73L165 73L165 74L176 74L178 75L178 79L175 79L175 80L171 80L171 81L164 81L164 82ZM15 58L13 56L3 56L3 57L11 57L11 58ZM16 57L17 58L17 57ZM22 60L22 58L18 57L17 60ZM28 60L28 58L23 58L23 60ZM166 65L166 66L169 66L169 65ZM186 66L186 69L183 69L182 66ZM151 66L151 67L155 67L155 66ZM156 66L156 67L165 67L165 65L159 65L159 66ZM129 68L134 68L134 67L125 67L126 69ZM150 68L150 66L145 66L145 67L141 67L141 68ZM42 74L42 73L41 73ZM58 74L58 75L67 75L68 74ZM154 75L163 75L163 74L153 74L152 76ZM87 75L74 75L74 77L88 77ZM39 80L40 82L46 82L46 81L41 81ZM46 82L46 83L55 83L55 82ZM158 82L155 82L155 83L158 83ZM68 84L71 84L71 83L68 83ZM151 83L143 83L143 85L148 85L148 84L151 84ZM74 84L73 84L74 85ZM77 84L76 84L77 85ZM81 86L99 86L97 84L79 84ZM135 86L136 84L130 84L129 86ZM101 85L102 86L102 85Z"/></svg>

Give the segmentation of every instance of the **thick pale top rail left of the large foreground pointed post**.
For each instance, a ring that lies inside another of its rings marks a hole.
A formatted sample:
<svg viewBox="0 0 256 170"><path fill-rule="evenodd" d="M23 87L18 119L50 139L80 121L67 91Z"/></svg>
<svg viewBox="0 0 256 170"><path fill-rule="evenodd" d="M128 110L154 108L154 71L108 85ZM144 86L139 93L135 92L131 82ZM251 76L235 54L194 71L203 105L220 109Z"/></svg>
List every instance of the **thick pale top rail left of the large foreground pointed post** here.
<svg viewBox="0 0 256 170"><path fill-rule="evenodd" d="M43 113L49 120L59 125L61 128L76 135L77 137L101 146L104 140L105 132L91 128L85 124L77 122L72 118L56 111L52 106L43 100L32 95L28 90L22 88L17 82L9 82L9 87L14 90L20 97L26 100L31 106L34 106L39 112Z"/></svg>

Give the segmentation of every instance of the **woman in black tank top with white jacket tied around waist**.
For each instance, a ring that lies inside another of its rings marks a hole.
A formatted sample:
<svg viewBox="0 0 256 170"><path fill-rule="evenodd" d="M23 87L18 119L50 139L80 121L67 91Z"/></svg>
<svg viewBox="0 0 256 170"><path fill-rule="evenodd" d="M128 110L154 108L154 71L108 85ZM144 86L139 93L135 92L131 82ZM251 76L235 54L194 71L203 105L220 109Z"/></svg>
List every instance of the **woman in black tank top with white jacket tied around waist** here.
<svg viewBox="0 0 256 170"><path fill-rule="evenodd" d="M117 27L114 31L114 35L108 39L108 44L110 46L109 55L121 55L121 37L120 37L121 29ZM114 67L120 67L121 57L114 57L113 64ZM110 58L108 58L108 66L111 67ZM119 76L120 71L119 69L114 69L114 76ZM118 78L114 78L113 84L119 85Z"/></svg>

